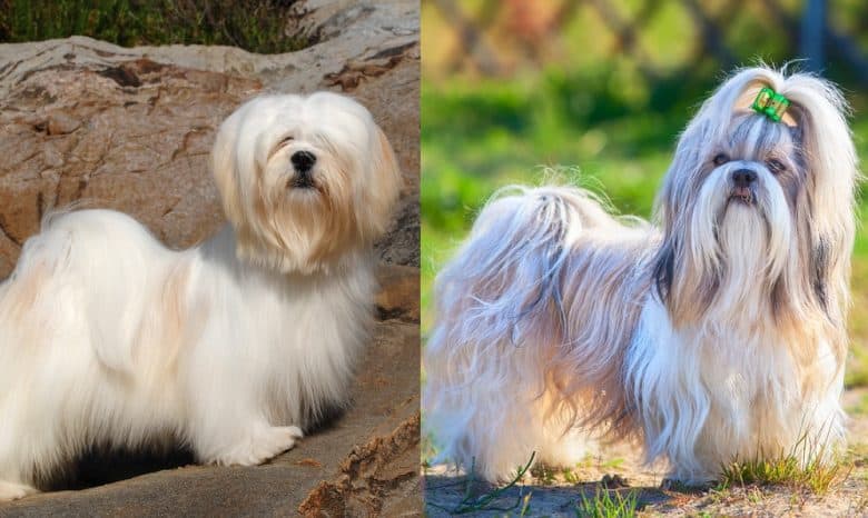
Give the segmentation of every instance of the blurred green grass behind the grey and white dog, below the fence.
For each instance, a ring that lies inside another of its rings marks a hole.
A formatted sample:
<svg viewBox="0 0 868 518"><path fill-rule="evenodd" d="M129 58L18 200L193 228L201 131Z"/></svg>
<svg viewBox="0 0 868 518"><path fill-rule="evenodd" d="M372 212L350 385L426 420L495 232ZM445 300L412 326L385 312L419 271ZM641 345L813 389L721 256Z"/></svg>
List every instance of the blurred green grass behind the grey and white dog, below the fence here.
<svg viewBox="0 0 868 518"><path fill-rule="evenodd" d="M651 215L678 135L718 78L660 86L677 93L667 98L662 91L630 96L614 77L605 70L550 69L512 80L423 81L423 337L433 318L434 276L497 187L537 183L545 176L541 166L570 167L575 168L571 181L604 195L621 213ZM857 109L865 104L852 92L848 97ZM852 127L859 155L866 156L868 119L857 117ZM864 223L868 205L861 198L859 209ZM865 225L856 246L854 293L848 382L868 385Z"/></svg>

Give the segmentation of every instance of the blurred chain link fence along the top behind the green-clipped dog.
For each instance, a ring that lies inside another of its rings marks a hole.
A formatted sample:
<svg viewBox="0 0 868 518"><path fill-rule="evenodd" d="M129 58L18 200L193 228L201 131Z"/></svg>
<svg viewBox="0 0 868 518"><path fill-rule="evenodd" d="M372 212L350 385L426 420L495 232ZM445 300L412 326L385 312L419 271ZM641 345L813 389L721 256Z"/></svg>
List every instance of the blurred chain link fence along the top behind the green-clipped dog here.
<svg viewBox="0 0 868 518"><path fill-rule="evenodd" d="M865 0L424 0L425 72L572 63L675 82L762 59L868 84Z"/></svg>

